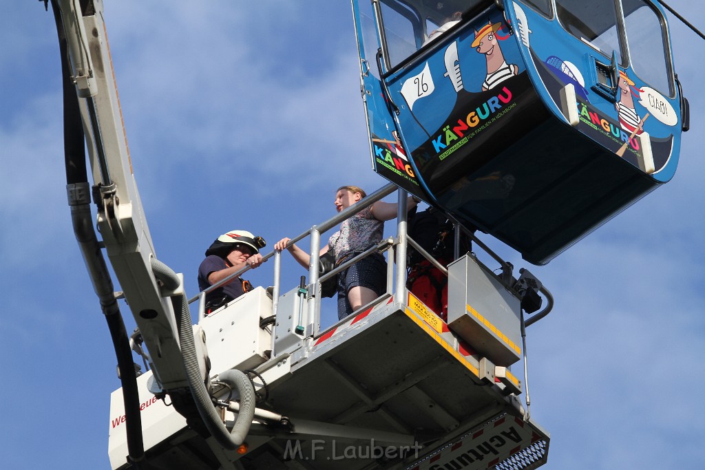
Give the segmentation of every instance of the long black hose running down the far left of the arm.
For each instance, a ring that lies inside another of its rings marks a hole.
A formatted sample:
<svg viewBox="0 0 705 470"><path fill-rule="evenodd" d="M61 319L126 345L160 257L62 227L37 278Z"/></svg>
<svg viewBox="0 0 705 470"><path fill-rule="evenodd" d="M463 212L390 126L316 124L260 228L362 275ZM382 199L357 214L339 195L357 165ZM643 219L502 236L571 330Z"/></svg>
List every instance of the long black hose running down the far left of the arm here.
<svg viewBox="0 0 705 470"><path fill-rule="evenodd" d="M66 165L66 183L71 206L71 220L76 241L91 277L93 288L105 315L120 369L125 406L125 433L127 435L128 459L136 469L144 468L145 445L142 440L142 415L137 376L130 340L125 323L113 291L113 282L95 235L90 209L90 188L85 156L85 136L80 118L80 107L75 86L71 82L68 66L66 32L61 22L61 11L56 0L51 0L51 9L59 35L61 75L63 82L63 148Z"/></svg>

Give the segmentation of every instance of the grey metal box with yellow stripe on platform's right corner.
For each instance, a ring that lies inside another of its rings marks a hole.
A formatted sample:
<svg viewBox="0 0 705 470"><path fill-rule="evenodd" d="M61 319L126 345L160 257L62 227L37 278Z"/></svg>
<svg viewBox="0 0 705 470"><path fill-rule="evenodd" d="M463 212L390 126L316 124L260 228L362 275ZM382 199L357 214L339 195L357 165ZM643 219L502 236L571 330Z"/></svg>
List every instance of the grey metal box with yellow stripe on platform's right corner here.
<svg viewBox="0 0 705 470"><path fill-rule="evenodd" d="M448 327L498 366L521 359L520 299L474 256L448 265Z"/></svg>

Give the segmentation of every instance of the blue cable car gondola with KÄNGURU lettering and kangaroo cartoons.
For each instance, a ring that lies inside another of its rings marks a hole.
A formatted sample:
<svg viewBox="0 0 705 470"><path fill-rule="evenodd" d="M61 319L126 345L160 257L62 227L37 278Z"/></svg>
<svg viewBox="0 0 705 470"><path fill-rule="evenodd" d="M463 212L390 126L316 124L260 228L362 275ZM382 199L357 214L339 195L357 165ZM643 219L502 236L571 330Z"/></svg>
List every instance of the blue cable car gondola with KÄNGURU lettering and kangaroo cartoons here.
<svg viewBox="0 0 705 470"><path fill-rule="evenodd" d="M652 0L353 0L375 170L546 264L668 182L687 101Z"/></svg>

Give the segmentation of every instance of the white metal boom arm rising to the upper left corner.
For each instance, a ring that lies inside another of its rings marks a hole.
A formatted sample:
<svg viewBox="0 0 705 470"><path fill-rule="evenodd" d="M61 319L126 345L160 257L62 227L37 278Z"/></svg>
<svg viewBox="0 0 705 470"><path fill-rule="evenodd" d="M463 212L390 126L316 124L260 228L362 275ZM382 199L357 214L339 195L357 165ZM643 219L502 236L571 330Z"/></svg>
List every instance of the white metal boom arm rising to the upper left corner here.
<svg viewBox="0 0 705 470"><path fill-rule="evenodd" d="M94 8L85 12L78 0L59 5L92 168L97 225L157 380L166 390L184 387L171 301L152 273L156 256L130 162L103 4L94 0Z"/></svg>

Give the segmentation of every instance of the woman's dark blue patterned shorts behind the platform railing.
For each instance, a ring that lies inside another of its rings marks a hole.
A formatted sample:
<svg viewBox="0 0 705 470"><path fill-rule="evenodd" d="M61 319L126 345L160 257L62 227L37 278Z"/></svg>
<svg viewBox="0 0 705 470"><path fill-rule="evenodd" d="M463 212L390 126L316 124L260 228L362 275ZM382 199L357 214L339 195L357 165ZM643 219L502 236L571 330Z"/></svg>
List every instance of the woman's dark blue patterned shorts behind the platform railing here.
<svg viewBox="0 0 705 470"><path fill-rule="evenodd" d="M367 287L377 295L386 292L387 262L379 253L357 261L338 274L338 320L353 313L348 302L348 291L353 287Z"/></svg>

